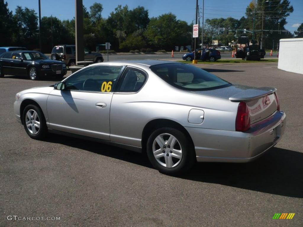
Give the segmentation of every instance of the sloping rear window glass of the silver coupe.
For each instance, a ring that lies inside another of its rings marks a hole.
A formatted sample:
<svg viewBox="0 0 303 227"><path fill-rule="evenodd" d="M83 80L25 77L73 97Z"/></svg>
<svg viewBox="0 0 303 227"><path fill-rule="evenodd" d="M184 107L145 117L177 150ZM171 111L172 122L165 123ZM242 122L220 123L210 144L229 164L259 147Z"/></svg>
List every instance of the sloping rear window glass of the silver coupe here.
<svg viewBox="0 0 303 227"><path fill-rule="evenodd" d="M183 90L213 90L231 86L227 81L188 64L159 64L150 69L168 84Z"/></svg>

